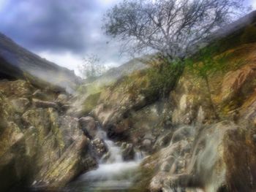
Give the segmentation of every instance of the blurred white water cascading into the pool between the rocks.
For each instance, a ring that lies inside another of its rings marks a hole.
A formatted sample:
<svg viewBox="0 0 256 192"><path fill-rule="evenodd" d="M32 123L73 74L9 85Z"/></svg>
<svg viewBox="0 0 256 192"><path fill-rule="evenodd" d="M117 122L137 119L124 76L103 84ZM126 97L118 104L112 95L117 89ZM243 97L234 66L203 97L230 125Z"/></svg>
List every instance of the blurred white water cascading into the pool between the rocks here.
<svg viewBox="0 0 256 192"><path fill-rule="evenodd" d="M110 156L108 161L99 160L99 166L77 180L70 183L67 191L72 192L101 192L101 191L132 191L135 173L138 169L143 154L135 153L133 161L123 161L121 147L108 139L105 131L99 128L97 137L103 139L108 147Z"/></svg>

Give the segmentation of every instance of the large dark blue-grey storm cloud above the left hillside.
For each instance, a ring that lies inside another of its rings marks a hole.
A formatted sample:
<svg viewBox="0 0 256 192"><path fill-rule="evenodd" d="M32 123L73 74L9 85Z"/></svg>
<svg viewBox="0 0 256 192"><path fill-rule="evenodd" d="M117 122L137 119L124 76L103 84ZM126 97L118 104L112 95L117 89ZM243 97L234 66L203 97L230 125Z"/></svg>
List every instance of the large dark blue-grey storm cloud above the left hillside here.
<svg viewBox="0 0 256 192"><path fill-rule="evenodd" d="M11 0L0 13L0 30L32 50L83 52L99 27L92 25L100 19L91 12L93 2Z"/></svg>

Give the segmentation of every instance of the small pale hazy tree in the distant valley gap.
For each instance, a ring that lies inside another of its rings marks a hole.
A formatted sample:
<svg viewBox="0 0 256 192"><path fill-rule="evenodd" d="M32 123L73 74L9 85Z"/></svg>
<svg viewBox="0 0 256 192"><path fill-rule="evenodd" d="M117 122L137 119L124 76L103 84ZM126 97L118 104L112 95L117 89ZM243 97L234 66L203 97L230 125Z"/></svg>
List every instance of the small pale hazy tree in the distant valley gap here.
<svg viewBox="0 0 256 192"><path fill-rule="evenodd" d="M100 63L100 59L97 55L87 55L86 58L83 58L80 73L84 78L92 80L95 77L99 77L105 71L106 68Z"/></svg>

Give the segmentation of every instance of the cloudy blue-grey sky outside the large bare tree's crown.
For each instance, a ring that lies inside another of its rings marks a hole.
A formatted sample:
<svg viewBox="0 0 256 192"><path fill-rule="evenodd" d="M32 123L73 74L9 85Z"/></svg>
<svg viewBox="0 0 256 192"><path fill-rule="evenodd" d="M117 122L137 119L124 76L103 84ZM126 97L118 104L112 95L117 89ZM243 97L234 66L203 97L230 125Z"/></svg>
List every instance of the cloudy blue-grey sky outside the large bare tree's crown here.
<svg viewBox="0 0 256 192"><path fill-rule="evenodd" d="M75 70L86 55L102 64L119 66L118 42L102 31L102 17L121 0L0 0L0 32L19 45ZM256 9L256 0L246 0Z"/></svg>

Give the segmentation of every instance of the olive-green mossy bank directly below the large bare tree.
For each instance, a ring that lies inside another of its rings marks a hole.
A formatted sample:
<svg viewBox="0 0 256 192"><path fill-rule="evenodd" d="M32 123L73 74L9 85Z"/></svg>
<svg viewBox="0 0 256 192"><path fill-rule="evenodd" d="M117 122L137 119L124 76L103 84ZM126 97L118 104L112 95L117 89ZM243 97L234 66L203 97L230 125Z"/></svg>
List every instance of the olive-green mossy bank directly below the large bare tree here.
<svg viewBox="0 0 256 192"><path fill-rule="evenodd" d="M135 72L121 81L121 87L125 87L133 99L138 95L148 99L167 96L184 69L181 61L170 63L167 59L159 58L152 60L150 65L150 68Z"/></svg>

